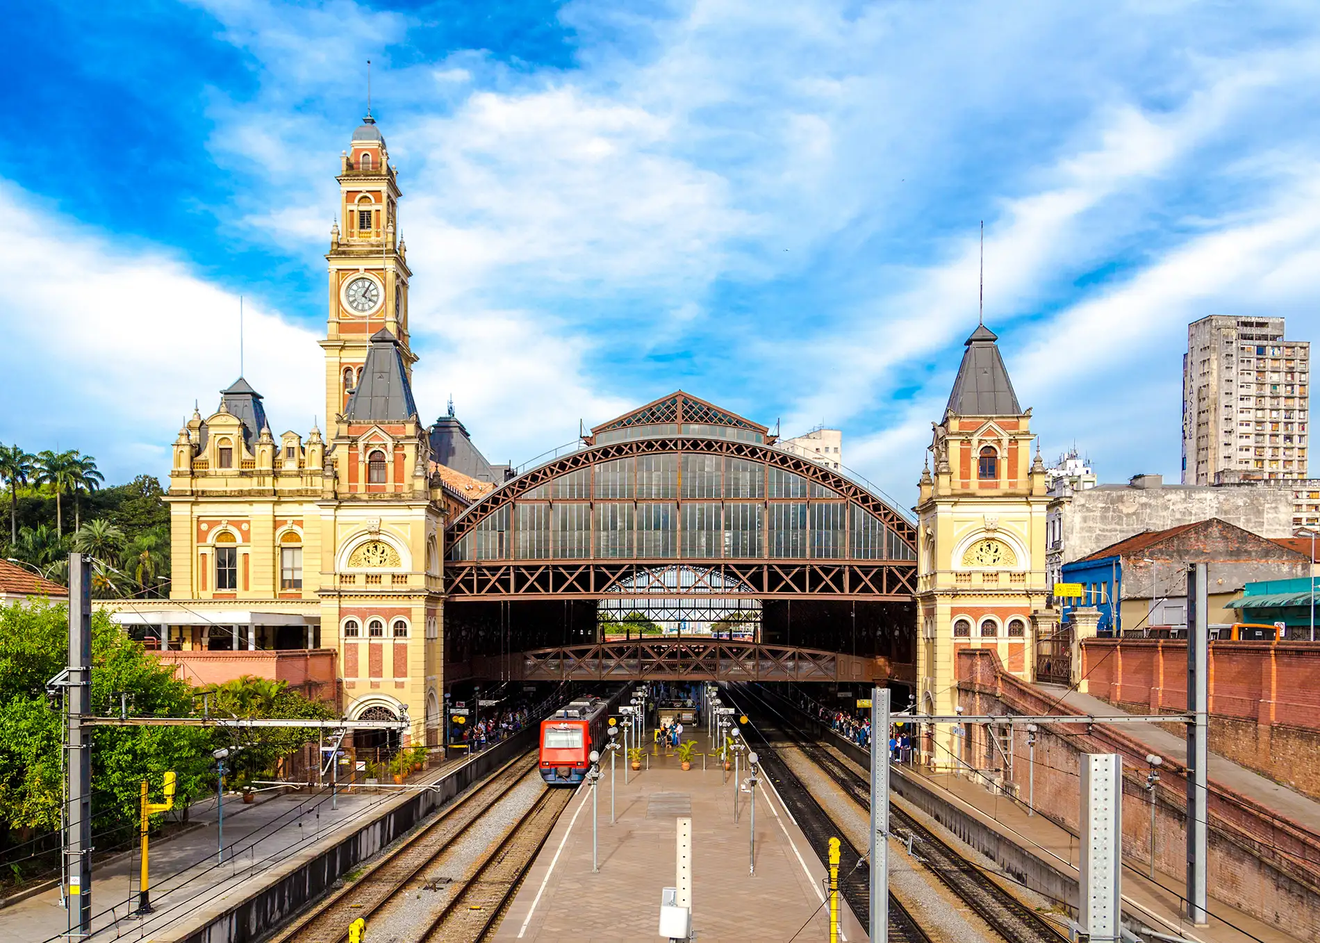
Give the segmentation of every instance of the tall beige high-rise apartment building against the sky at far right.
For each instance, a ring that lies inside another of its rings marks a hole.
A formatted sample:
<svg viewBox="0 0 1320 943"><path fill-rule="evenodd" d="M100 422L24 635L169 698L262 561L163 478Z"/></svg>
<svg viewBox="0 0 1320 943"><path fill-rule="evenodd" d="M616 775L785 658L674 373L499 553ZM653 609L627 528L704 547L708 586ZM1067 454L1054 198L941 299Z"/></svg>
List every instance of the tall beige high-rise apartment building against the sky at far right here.
<svg viewBox="0 0 1320 943"><path fill-rule="evenodd" d="M1216 475L1307 477L1311 345L1286 341L1282 317L1214 314L1187 328L1183 483Z"/></svg>

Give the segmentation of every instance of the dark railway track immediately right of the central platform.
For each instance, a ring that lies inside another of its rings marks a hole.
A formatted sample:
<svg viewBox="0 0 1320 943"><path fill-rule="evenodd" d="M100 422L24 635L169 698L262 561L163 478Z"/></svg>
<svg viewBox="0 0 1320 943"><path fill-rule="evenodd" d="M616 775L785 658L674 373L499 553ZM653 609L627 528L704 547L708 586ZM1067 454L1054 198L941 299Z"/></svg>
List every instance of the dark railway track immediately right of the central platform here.
<svg viewBox="0 0 1320 943"><path fill-rule="evenodd" d="M840 894L847 902L847 906L851 907L853 915L857 917L858 922L863 927L870 926L871 870L863 860L865 851L855 848L846 836L840 833L840 828L829 818L829 814L821 808L820 803L812 796L810 790L803 785L803 781L788 767L788 763L779 758L774 745L764 733L755 726L752 730L770 748L759 757L762 770L775 785L775 790L793 814L797 827L803 829L803 835L810 841L822 864L828 865L829 840L832 837L840 840ZM894 943L931 943L931 936L892 893L890 893L890 940L894 940Z"/></svg>

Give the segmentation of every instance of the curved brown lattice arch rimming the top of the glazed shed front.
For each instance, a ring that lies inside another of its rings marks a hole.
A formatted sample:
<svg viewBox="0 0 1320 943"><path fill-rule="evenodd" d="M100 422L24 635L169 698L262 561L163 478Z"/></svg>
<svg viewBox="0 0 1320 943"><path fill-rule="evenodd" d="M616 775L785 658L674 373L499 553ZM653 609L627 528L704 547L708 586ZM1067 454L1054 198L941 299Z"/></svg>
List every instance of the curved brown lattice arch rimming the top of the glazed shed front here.
<svg viewBox="0 0 1320 943"><path fill-rule="evenodd" d="M573 452L539 468L527 472L503 486L495 489L490 495L477 502L463 511L445 530L445 559L458 540L477 527L499 508L512 505L528 491L560 478L570 472L590 468L598 462L607 462L615 458L630 456L649 456L661 453L689 453L689 454L721 454L734 458L747 458L750 461L766 462L771 466L792 472L808 481L816 482L834 491L840 498L845 498L870 511L886 527L892 530L898 538L916 553L916 526L907 518L890 507L875 494L862 487L851 478L833 472L809 458L795 456L789 452L743 442L733 438L701 438L697 436L659 436L655 438L631 438L609 445L593 445L579 452Z"/></svg>

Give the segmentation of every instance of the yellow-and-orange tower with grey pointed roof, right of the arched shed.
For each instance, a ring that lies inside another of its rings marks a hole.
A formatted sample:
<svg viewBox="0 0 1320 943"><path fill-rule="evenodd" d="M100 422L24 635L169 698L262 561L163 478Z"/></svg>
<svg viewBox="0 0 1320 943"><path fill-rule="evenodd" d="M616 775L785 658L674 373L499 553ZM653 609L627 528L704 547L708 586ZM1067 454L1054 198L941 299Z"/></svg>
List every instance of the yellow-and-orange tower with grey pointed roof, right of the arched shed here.
<svg viewBox="0 0 1320 943"><path fill-rule="evenodd" d="M1045 468L1032 458L1031 411L1022 409L995 343L978 326L966 341L944 417L921 473L917 514L919 709L953 713L962 648L994 648L1005 667L1034 676L1045 608ZM954 755L935 732L931 762Z"/></svg>

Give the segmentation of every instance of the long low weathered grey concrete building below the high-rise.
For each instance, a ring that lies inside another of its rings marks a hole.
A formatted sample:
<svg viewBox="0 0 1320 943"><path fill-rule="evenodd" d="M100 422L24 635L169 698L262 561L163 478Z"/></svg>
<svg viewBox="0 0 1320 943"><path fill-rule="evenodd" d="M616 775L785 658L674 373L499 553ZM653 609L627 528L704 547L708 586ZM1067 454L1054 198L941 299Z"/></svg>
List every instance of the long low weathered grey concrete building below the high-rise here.
<svg viewBox="0 0 1320 943"><path fill-rule="evenodd" d="M1166 485L1158 474L1081 491L1063 487L1049 498L1045 519L1049 585L1064 581L1064 564L1142 531L1218 518L1262 538L1292 536L1292 494L1282 482L1255 482L1254 487Z"/></svg>

